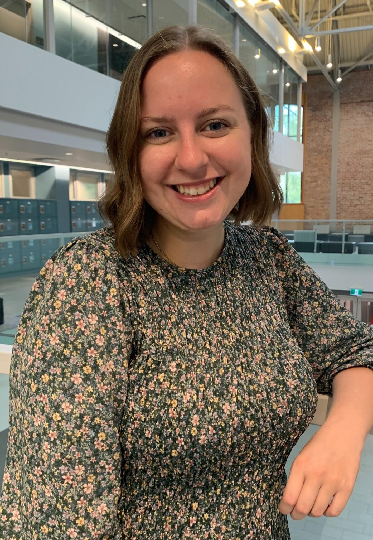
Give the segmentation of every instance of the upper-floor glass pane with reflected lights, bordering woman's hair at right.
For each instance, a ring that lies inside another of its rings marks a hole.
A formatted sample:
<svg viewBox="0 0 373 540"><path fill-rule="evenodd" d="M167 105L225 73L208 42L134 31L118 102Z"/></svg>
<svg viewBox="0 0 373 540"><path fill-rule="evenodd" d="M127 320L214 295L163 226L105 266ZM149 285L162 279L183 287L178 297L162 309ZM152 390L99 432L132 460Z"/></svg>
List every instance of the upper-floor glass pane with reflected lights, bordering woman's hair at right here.
<svg viewBox="0 0 373 540"><path fill-rule="evenodd" d="M255 37L242 22L239 23L239 29L240 60L261 90L270 122L275 131L278 131L280 58Z"/></svg>

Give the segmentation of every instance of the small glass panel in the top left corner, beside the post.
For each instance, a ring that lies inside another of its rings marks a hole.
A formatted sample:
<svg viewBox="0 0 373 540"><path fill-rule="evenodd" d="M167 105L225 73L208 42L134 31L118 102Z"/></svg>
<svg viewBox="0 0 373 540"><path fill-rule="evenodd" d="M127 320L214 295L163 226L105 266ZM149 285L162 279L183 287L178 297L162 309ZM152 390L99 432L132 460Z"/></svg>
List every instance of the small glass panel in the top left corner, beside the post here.
<svg viewBox="0 0 373 540"><path fill-rule="evenodd" d="M0 0L0 32L44 49L43 0Z"/></svg>

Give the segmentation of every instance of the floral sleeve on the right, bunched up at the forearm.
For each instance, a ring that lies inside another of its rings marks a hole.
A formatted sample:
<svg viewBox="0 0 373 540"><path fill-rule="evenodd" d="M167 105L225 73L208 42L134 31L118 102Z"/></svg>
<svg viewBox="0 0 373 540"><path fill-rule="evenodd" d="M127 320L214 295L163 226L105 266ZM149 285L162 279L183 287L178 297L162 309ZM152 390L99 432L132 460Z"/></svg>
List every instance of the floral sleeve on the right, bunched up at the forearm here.
<svg viewBox="0 0 373 540"><path fill-rule="evenodd" d="M291 333L309 361L317 392L330 394L334 376L373 369L373 328L358 321L274 227L261 228L274 256Z"/></svg>

